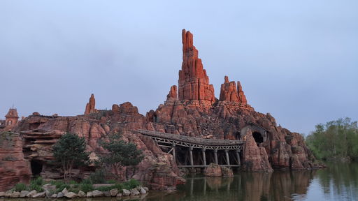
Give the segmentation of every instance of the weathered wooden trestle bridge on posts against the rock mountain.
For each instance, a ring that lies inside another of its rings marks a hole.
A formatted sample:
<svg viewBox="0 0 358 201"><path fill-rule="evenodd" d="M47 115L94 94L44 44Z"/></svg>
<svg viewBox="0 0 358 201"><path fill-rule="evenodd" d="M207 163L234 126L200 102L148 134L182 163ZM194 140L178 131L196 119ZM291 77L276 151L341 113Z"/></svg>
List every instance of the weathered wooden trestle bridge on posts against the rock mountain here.
<svg viewBox="0 0 358 201"><path fill-rule="evenodd" d="M152 138L163 151L172 154L178 168L206 168L208 163L231 168L241 166L244 142L240 140L203 139L147 130L136 132Z"/></svg>

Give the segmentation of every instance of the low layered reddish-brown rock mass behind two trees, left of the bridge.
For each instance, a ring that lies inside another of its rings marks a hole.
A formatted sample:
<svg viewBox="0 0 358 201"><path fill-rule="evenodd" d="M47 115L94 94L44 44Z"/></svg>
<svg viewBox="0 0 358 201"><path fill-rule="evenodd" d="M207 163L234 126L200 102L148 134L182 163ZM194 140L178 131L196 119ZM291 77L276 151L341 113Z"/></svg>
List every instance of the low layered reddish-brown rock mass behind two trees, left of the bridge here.
<svg viewBox="0 0 358 201"><path fill-rule="evenodd" d="M157 190L175 189L177 184L185 182L179 176L180 172L176 163L173 162L173 156L159 149L151 138L133 133L138 128L144 129L146 124L145 117L138 113L138 108L129 102L114 108L116 112L99 110L99 112L85 116L31 115L25 118L13 130L24 137L24 145L21 144L18 148L20 154L22 154L22 150L24 150L24 154L19 158L25 165L29 165L29 161L41 163L41 176L45 179L59 179L62 177L61 172L48 162L53 159L52 145L64 133L76 133L80 137L85 137L87 151L91 152L90 158L95 160L99 155L106 154L106 150L99 144L100 140L106 140L108 135L120 132L122 140L136 144L145 155L143 161L135 168L122 168L119 175L121 179L135 178L148 181L150 186ZM103 118L106 121L103 122ZM2 168L1 164L0 168ZM92 171L93 168L87 167L73 170L73 173L74 177L82 178ZM112 171L114 172L114 170ZM29 174L31 171L24 175ZM0 176L0 178L2 177Z"/></svg>

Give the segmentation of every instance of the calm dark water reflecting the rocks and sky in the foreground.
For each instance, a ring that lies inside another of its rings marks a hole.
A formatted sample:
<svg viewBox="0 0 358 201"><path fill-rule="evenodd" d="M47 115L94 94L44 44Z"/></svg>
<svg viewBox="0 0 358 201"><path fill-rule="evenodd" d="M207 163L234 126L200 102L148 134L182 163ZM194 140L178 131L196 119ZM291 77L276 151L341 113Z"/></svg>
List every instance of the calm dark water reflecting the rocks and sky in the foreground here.
<svg viewBox="0 0 358 201"><path fill-rule="evenodd" d="M196 175L187 177L187 184L178 186L178 191L175 193L150 192L145 198L126 200L358 200L358 163L326 164L328 168L323 170L241 172L235 174L234 178Z"/></svg>

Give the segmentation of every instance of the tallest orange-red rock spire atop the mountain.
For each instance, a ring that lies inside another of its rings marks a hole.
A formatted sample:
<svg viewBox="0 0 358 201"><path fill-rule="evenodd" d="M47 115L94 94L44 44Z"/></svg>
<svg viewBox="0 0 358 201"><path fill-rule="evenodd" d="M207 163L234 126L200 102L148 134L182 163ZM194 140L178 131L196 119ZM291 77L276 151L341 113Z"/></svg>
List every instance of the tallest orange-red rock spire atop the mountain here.
<svg viewBox="0 0 358 201"><path fill-rule="evenodd" d="M182 29L182 70L179 70L179 100L215 101L213 84L203 69L193 34Z"/></svg>

